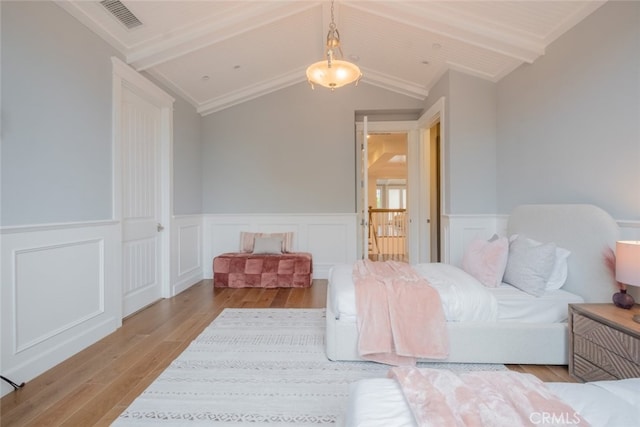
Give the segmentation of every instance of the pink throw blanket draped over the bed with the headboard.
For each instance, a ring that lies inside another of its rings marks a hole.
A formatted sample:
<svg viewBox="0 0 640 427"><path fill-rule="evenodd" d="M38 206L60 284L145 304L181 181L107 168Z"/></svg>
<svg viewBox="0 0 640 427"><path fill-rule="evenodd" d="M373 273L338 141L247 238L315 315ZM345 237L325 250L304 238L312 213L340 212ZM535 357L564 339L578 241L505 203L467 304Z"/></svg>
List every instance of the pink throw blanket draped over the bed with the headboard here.
<svg viewBox="0 0 640 427"><path fill-rule="evenodd" d="M440 295L406 263L361 260L353 268L360 357L390 365L444 359L449 339Z"/></svg>

